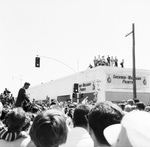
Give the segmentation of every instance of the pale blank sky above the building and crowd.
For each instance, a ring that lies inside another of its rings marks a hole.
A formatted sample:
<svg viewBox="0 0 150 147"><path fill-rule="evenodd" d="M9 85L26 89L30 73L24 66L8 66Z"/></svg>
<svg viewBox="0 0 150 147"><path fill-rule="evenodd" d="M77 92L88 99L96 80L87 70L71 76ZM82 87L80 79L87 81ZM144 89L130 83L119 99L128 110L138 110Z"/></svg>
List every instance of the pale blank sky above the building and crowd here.
<svg viewBox="0 0 150 147"><path fill-rule="evenodd" d="M0 93L87 70L98 55L132 68L133 23L136 68L150 70L149 0L0 0Z"/></svg>

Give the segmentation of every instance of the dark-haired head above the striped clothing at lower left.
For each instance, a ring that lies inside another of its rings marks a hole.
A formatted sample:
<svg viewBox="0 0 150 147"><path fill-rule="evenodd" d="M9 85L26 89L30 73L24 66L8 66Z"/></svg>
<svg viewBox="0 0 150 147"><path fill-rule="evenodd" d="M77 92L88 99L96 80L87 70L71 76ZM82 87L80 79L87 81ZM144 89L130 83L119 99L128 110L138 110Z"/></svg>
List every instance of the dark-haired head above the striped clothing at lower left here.
<svg viewBox="0 0 150 147"><path fill-rule="evenodd" d="M25 124L26 113L21 108L14 108L6 116L6 125L11 131L21 131Z"/></svg>

